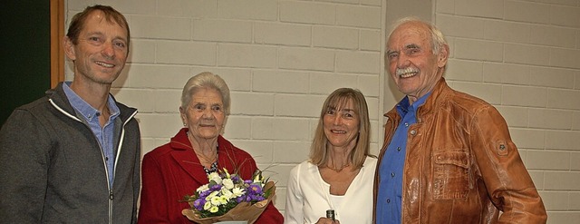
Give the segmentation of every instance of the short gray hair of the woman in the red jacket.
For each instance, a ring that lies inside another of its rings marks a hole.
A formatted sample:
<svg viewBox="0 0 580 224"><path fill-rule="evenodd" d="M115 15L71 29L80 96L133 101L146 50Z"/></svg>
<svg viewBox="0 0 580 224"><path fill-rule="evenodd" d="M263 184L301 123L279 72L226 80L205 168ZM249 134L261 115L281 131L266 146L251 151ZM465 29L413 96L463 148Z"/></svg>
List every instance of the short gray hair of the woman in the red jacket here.
<svg viewBox="0 0 580 224"><path fill-rule="evenodd" d="M198 73L189 78L188 83L185 83L181 93L181 108L185 109L191 102L191 96L204 88L215 89L220 93L221 101L224 102L224 112L228 115L230 104L229 87L227 87L226 81L219 77L218 74L209 72Z"/></svg>

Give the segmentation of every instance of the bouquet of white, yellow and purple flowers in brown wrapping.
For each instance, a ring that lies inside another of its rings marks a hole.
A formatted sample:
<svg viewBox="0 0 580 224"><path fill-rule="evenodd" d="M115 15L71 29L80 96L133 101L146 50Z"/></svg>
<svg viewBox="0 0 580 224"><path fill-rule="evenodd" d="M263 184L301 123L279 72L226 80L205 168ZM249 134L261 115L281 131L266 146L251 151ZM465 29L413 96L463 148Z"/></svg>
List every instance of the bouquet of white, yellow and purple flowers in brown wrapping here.
<svg viewBox="0 0 580 224"><path fill-rule="evenodd" d="M189 209L182 214L189 220L209 224L218 221L247 220L254 223L275 195L275 184L256 170L252 180L242 180L225 168L208 174L209 183L185 196Z"/></svg>

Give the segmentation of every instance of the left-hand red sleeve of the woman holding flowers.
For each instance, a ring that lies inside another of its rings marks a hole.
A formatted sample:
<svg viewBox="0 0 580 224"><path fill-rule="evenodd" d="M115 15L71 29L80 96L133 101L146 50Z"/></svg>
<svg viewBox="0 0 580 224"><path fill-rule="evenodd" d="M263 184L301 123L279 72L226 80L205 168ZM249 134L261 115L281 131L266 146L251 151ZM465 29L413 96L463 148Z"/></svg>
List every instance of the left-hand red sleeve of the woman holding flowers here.
<svg viewBox="0 0 580 224"><path fill-rule="evenodd" d="M146 154L141 166L143 183L137 223L170 223L166 204L169 195L159 162Z"/></svg>

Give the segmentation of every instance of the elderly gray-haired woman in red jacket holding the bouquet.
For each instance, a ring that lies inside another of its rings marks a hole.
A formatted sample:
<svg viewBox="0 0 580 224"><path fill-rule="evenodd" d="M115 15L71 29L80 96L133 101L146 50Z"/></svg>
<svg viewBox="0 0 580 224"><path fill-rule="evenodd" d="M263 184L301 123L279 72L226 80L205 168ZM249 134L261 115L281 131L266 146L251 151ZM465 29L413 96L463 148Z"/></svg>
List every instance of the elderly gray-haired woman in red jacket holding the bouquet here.
<svg viewBox="0 0 580 224"><path fill-rule="evenodd" d="M208 183L208 173L233 171L248 180L256 171L250 154L221 136L229 114L229 88L213 73L189 79L181 94L181 129L169 143L145 154L138 223L192 223L181 214L181 202ZM280 212L270 203L256 223L282 223Z"/></svg>

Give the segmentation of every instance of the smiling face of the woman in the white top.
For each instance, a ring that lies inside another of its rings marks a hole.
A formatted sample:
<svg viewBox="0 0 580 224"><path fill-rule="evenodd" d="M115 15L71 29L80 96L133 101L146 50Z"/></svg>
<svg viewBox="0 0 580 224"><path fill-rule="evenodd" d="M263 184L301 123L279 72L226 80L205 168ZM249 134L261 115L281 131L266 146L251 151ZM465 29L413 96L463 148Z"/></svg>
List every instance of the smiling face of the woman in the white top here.
<svg viewBox="0 0 580 224"><path fill-rule="evenodd" d="M360 118L353 105L353 100L339 106L329 106L324 113L324 135L328 140L328 147L351 150L356 145L359 133Z"/></svg>

